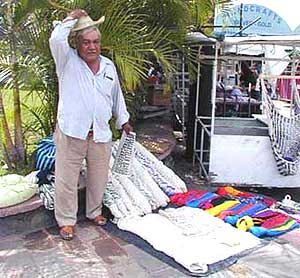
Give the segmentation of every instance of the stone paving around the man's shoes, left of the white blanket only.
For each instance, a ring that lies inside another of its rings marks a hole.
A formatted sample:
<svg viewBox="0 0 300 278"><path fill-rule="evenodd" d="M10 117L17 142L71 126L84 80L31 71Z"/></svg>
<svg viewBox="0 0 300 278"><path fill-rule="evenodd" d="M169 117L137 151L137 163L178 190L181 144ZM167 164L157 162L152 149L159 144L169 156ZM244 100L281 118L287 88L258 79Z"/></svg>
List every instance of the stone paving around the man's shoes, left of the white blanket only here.
<svg viewBox="0 0 300 278"><path fill-rule="evenodd" d="M87 220L63 241L57 228L0 241L0 277L187 277Z"/></svg>

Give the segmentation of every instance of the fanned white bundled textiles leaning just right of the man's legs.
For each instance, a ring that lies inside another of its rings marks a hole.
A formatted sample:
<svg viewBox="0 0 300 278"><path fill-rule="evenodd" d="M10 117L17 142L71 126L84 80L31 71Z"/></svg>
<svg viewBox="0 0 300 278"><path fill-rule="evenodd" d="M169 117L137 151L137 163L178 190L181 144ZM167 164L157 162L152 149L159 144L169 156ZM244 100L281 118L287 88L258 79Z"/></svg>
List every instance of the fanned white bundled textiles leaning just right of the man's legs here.
<svg viewBox="0 0 300 278"><path fill-rule="evenodd" d="M146 148L135 142L129 175L112 172L119 141L112 148L110 172L103 203L114 216L114 222L151 213L167 206L169 195L187 191L185 183Z"/></svg>

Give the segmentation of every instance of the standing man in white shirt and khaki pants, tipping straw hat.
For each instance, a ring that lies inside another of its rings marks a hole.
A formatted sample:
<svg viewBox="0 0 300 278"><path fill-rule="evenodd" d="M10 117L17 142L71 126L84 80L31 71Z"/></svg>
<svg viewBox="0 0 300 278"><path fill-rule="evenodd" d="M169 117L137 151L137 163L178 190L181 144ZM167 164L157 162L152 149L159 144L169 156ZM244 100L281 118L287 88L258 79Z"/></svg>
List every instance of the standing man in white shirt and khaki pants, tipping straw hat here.
<svg viewBox="0 0 300 278"><path fill-rule="evenodd" d="M55 218L63 239L74 237L78 209L78 177L83 159L87 162L86 216L104 225L102 199L108 178L112 133L116 127L132 131L116 68L100 55L101 35L83 10L72 11L58 22L49 43L59 80L59 103L55 162ZM76 49L68 43L75 33Z"/></svg>

